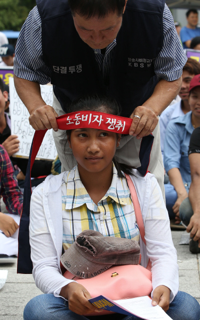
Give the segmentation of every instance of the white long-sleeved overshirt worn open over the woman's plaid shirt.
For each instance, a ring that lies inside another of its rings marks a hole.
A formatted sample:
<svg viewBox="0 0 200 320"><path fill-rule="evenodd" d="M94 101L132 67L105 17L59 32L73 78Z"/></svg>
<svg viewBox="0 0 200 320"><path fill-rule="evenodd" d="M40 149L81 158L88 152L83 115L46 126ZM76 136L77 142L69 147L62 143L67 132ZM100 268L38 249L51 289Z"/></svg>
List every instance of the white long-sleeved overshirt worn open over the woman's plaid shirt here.
<svg viewBox="0 0 200 320"><path fill-rule="evenodd" d="M177 253L173 245L168 212L160 186L151 173L145 177L134 170L135 185L142 211L146 245L140 237L141 264L152 262L153 290L159 285L170 288L170 302L178 292ZM48 176L32 193L30 203L30 245L33 277L44 293L59 296L63 286L73 280L63 277L60 269L62 255L62 193L63 175Z"/></svg>

